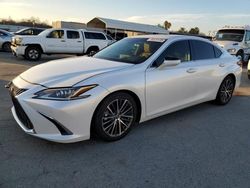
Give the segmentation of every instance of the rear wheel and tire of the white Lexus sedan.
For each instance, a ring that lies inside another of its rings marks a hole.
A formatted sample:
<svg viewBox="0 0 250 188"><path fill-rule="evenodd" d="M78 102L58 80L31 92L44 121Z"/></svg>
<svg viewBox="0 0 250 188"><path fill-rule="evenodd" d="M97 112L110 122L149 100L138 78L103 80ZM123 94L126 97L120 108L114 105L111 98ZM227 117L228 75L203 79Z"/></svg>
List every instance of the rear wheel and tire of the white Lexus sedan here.
<svg viewBox="0 0 250 188"><path fill-rule="evenodd" d="M216 104L226 105L230 102L235 88L235 80L232 76L227 76L221 83L216 97Z"/></svg>

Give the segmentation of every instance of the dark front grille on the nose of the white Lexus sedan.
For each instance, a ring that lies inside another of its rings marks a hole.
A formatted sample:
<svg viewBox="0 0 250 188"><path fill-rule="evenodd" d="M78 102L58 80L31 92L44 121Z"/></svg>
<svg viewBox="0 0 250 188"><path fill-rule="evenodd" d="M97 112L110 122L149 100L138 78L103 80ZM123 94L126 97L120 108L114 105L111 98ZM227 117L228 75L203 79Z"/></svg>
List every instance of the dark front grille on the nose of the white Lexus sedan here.
<svg viewBox="0 0 250 188"><path fill-rule="evenodd" d="M20 95L21 93L27 91L27 89L19 89L13 83L11 83L9 85L9 91L18 119L27 129L33 129L34 128L33 124L31 123L29 117L27 116L27 114L25 113L25 111L23 110L22 106L20 105L20 103L16 98L17 95Z"/></svg>

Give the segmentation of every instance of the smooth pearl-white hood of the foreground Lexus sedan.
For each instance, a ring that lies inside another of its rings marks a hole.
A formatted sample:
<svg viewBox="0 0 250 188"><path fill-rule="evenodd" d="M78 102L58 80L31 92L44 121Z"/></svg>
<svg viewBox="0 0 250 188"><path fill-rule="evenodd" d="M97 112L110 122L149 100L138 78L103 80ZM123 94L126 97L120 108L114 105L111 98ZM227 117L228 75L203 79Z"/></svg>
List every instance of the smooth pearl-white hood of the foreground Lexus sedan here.
<svg viewBox="0 0 250 188"><path fill-rule="evenodd" d="M75 57L37 65L22 73L20 77L32 84L46 87L70 87L89 77L130 66L133 64L91 57Z"/></svg>

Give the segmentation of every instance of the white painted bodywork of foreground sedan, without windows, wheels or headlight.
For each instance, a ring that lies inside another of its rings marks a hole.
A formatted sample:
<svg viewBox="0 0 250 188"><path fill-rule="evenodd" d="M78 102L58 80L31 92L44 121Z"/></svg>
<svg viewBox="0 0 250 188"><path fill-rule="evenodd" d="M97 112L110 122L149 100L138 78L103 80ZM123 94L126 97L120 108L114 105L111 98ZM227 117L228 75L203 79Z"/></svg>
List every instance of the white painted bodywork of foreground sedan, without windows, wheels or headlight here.
<svg viewBox="0 0 250 188"><path fill-rule="evenodd" d="M141 36L143 37L143 36ZM144 36L145 37L145 36ZM148 37L148 36L147 36ZM90 138L91 120L98 104L109 94L127 90L141 103L140 122L188 106L214 100L223 79L233 74L236 87L240 84L241 67L237 58L226 51L220 58L181 63L177 66L154 68L150 65L174 41L195 37L153 35L168 41L145 62L133 65L96 58L70 58L48 62L24 72L13 80L18 88L28 91L16 96L34 125L35 133L43 139L69 143ZM149 37L149 38L150 38ZM219 66L224 63L225 66ZM196 69L188 73L190 68ZM98 84L86 93L89 98L73 101L53 101L32 98L45 87L69 87ZM39 113L63 124L73 135L63 136L57 128ZM13 115L15 111L13 110ZM20 121L17 123L22 127Z"/></svg>

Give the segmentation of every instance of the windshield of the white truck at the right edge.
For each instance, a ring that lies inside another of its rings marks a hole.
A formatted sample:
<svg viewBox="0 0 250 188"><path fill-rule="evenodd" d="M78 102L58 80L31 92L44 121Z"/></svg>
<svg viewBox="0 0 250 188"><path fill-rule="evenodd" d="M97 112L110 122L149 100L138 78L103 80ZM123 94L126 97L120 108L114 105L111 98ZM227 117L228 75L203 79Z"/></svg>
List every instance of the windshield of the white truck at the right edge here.
<svg viewBox="0 0 250 188"><path fill-rule="evenodd" d="M244 30L223 29L216 34L216 40L241 42L244 38Z"/></svg>

